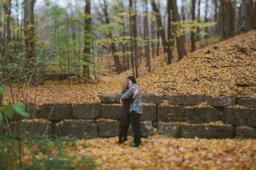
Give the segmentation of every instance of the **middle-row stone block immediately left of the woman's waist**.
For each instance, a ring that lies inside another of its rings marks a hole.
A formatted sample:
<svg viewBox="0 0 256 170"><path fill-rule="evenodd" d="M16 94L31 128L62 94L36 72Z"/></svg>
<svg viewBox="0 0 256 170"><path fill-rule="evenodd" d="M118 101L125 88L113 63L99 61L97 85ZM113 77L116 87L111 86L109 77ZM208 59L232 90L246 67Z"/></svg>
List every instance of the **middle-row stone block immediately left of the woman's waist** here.
<svg viewBox="0 0 256 170"><path fill-rule="evenodd" d="M122 105L108 105L103 104L101 108L101 115L104 119L120 119L120 111L122 109Z"/></svg>

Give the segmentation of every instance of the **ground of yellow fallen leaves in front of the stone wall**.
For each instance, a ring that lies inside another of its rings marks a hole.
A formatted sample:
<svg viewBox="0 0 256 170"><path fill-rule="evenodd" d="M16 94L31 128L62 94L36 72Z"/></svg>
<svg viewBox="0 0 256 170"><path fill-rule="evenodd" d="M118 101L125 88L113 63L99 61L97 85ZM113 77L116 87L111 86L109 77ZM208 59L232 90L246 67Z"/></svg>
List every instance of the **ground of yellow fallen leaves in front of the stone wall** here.
<svg viewBox="0 0 256 170"><path fill-rule="evenodd" d="M94 166L102 170L256 169L256 140L170 139L155 135L143 138L138 148L129 147L131 142L132 138L129 138L119 145L117 137L63 141L61 145L51 141L33 144L27 141L22 145L22 162L26 164L24 167L35 169L47 166L58 169L87 169ZM18 148L3 155L1 151L10 148L9 143L0 141L0 147L0 157L10 157L4 166L15 167ZM86 162L85 158L94 163ZM57 161L62 166L57 165Z"/></svg>

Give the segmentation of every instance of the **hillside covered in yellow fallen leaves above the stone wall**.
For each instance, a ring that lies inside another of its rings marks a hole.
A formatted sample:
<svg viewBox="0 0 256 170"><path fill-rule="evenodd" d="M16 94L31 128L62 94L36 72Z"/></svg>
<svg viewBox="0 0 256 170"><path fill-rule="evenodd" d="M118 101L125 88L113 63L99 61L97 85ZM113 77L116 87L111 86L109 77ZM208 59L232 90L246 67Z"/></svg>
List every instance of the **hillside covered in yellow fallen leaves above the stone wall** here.
<svg viewBox="0 0 256 170"><path fill-rule="evenodd" d="M176 47L173 55L176 57ZM186 48L189 50L189 46ZM189 53L183 60L166 65L164 54L152 59L148 73L142 61L138 85L143 94L203 94L219 97L256 98L256 30L239 34L205 48ZM109 61L111 62L111 61ZM109 69L108 69L109 70ZM107 72L107 70L101 70ZM122 82L132 70L116 75L101 76L100 82L79 84L75 81L45 81L37 88L12 87L3 103L13 100L43 103L100 102L100 94L120 93ZM37 90L37 93L36 93ZM6 88L6 94L10 88Z"/></svg>

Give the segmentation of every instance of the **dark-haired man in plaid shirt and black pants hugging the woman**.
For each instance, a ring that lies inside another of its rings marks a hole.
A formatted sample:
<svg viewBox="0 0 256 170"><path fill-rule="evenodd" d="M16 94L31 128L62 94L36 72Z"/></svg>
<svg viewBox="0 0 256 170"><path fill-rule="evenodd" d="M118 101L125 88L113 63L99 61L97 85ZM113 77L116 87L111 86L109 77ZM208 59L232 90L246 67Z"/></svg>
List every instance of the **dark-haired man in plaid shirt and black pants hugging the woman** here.
<svg viewBox="0 0 256 170"><path fill-rule="evenodd" d="M136 79L133 76L129 76L127 79L130 79L133 83L133 86L130 87L124 94L121 94L120 103L123 104L122 99L127 99L130 97L135 89L139 89L137 96L135 97L134 102L130 103L129 113L131 121L131 129L134 133L134 142L130 144L131 147L138 147L140 145L141 131L139 119L142 114L142 103L141 103L141 90L137 85Z"/></svg>

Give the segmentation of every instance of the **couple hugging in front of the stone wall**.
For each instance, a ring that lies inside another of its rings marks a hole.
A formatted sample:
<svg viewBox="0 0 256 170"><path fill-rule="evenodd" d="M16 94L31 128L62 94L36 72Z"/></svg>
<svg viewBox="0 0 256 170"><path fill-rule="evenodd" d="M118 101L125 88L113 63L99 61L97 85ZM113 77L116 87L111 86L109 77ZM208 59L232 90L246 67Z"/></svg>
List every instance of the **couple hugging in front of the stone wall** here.
<svg viewBox="0 0 256 170"><path fill-rule="evenodd" d="M141 131L139 120L142 114L141 90L137 85L136 79L129 76L123 84L121 90L120 103L124 104L120 111L119 144L127 140L128 128L131 123L131 129L134 133L134 142L130 147L138 147L140 145Z"/></svg>

